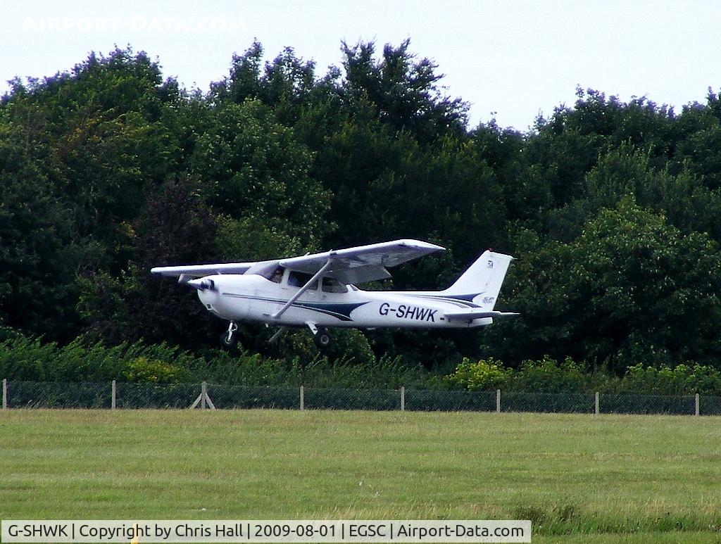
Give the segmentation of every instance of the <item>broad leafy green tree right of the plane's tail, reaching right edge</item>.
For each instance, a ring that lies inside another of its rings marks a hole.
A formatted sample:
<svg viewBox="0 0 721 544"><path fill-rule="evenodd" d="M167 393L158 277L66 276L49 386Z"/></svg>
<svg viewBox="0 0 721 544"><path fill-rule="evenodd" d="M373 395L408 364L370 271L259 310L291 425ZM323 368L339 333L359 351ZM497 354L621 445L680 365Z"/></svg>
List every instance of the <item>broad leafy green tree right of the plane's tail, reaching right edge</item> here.
<svg viewBox="0 0 721 544"><path fill-rule="evenodd" d="M523 316L487 334L504 360L548 353L614 370L718 360L721 256L707 235L625 199L569 244L522 238L504 301Z"/></svg>

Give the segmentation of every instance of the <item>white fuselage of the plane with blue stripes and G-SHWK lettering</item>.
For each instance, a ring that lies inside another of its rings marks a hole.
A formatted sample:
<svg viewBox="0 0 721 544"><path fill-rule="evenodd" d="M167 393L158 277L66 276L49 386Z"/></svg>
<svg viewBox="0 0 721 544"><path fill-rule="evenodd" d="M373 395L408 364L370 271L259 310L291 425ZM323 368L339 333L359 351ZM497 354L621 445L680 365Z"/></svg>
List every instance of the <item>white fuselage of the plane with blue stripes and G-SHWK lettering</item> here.
<svg viewBox="0 0 721 544"><path fill-rule="evenodd" d="M319 282L306 290L278 318L273 315L295 295L300 287L288 285L288 273L280 283L260 275L212 275L212 290L198 290L203 306L229 321L259 321L278 326L320 327L407 327L466 329L488 325L492 318L449 321L446 312L477 307L463 298L441 291L364 291L354 285L337 285L332 292Z"/></svg>

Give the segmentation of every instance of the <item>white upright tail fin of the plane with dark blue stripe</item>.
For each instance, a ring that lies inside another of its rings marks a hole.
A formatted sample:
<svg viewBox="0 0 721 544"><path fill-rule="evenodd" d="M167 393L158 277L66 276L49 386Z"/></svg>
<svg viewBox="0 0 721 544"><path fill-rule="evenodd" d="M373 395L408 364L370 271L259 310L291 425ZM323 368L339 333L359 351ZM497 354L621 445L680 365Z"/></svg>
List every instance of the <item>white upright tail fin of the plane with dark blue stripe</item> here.
<svg viewBox="0 0 721 544"><path fill-rule="evenodd" d="M510 255L484 251L443 294L472 300L481 308L492 310L512 260Z"/></svg>

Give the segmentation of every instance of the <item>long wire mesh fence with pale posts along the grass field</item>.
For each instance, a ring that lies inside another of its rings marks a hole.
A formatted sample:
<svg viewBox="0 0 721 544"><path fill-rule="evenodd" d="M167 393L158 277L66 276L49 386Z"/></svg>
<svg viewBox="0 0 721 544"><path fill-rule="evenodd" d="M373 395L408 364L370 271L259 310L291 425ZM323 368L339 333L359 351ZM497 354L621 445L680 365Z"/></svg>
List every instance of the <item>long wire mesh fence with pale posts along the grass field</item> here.
<svg viewBox="0 0 721 544"><path fill-rule="evenodd" d="M721 396L2 381L2 408L326 409L721 415Z"/></svg>

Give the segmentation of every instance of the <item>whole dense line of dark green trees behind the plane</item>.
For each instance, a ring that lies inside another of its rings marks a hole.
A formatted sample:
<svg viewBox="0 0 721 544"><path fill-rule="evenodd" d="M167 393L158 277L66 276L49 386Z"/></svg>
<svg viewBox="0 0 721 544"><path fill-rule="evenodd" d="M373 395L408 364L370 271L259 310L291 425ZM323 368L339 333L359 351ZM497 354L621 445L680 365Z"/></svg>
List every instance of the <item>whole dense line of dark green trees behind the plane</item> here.
<svg viewBox="0 0 721 544"><path fill-rule="evenodd" d="M152 266L407 237L448 251L372 288L445 287L492 246L518 258L498 306L521 317L481 332L341 331L331 364L721 368L711 89L676 112L579 88L521 132L470 127L468 104L408 40L342 43L324 72L291 48L263 58L252 43L207 92L131 48L12 81L0 100L0 338L216 357L221 322ZM305 331L277 347L272 333L245 326L244 349L317 357Z"/></svg>

